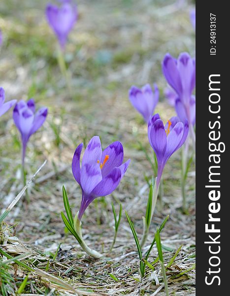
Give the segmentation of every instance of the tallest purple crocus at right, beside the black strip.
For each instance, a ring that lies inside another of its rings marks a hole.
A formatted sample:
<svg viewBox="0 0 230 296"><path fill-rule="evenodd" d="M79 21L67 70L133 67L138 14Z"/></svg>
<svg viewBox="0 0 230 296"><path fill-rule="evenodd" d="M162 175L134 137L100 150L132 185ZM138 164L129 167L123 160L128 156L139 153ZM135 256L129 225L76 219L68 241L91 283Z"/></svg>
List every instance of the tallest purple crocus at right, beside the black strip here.
<svg viewBox="0 0 230 296"><path fill-rule="evenodd" d="M184 111L189 124L192 126L194 110L191 109L192 92L196 83L195 59L183 52L178 59L171 57L169 53L164 56L162 63L163 73L168 84L174 89L179 98L179 103L184 106ZM179 105L180 105L179 104ZM194 104L192 104L194 106Z"/></svg>

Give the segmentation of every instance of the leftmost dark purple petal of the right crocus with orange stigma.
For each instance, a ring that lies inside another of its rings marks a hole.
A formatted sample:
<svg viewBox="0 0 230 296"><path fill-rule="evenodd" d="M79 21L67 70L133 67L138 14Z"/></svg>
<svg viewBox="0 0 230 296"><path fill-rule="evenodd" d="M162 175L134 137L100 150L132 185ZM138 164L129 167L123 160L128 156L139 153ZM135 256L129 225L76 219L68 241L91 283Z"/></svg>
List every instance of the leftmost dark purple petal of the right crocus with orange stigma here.
<svg viewBox="0 0 230 296"><path fill-rule="evenodd" d="M161 119L157 119L148 128L148 138L151 147L154 149L158 163L161 163L166 149L166 133Z"/></svg>

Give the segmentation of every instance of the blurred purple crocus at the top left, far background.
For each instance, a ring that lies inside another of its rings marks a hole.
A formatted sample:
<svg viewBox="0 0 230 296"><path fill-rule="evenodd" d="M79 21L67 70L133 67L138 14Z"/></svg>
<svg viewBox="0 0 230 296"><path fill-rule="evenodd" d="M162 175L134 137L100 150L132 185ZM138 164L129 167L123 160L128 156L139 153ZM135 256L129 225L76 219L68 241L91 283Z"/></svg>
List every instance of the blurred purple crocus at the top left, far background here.
<svg viewBox="0 0 230 296"><path fill-rule="evenodd" d="M61 47L64 49L68 34L77 21L77 6L70 0L61 1L59 7L48 4L46 18L50 27L54 30Z"/></svg>

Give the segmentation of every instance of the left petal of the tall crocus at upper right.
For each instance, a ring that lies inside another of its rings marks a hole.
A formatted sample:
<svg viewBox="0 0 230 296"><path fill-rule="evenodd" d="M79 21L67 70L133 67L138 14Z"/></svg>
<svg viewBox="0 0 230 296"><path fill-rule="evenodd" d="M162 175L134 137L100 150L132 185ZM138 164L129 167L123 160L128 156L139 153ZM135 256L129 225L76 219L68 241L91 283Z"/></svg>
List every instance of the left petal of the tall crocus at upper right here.
<svg viewBox="0 0 230 296"><path fill-rule="evenodd" d="M181 77L177 69L177 61L169 53L164 56L162 63L164 76L168 84L178 93L182 94Z"/></svg>

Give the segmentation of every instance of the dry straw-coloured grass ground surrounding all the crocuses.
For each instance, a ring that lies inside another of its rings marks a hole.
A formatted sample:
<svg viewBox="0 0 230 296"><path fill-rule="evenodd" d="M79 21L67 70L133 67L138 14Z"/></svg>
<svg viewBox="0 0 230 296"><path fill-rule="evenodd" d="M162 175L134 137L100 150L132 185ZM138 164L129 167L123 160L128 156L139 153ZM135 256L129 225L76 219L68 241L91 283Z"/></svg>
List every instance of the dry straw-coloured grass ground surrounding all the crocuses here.
<svg viewBox="0 0 230 296"><path fill-rule="evenodd" d="M28 147L28 176L45 159L48 163L29 189L30 203L21 200L5 219L7 224L0 230L1 248L13 257L25 254L20 261L34 269L29 272L25 295L163 296L164 282L158 262L154 271L147 267L146 276L140 279L138 255L124 213L115 247L109 253L113 241L111 202L117 211L122 202L141 235L148 197L144 174L150 177L152 172L137 142L141 141L150 153L151 149L146 126L128 100L128 89L132 84L157 82L161 101L156 111L165 120L174 114L164 101L166 83L161 60L167 51L175 56L185 50L194 55L190 6L186 1L174 4L169 0L78 2L79 20L66 48L72 73L72 98L56 64L55 38L43 14L46 1L0 3L0 27L5 32L0 51L0 84L5 88L6 100L33 96L39 106L49 108L44 128L33 135ZM9 115L10 112L0 120L2 209L22 188L18 131ZM93 135L100 136L103 148L112 141L121 141L125 159L131 158L119 188L111 196L95 200L83 217L84 238L91 247L106 254L107 259L103 260L91 259L81 251L74 238L65 232L60 216L64 209L62 185L74 213L79 209L81 192L71 174L71 159L76 146L86 144ZM183 215L180 152L168 161L164 172L164 208L157 207L148 240L149 245L157 226L169 214L161 233L165 264L183 244L166 271L170 295L176 296L195 295L194 166L191 170L187 182L189 215ZM16 226L9 229L9 225ZM53 259L57 249L57 257ZM156 257L155 246L149 262ZM16 290L28 270L11 262L8 271ZM63 287L58 280L69 286Z"/></svg>

